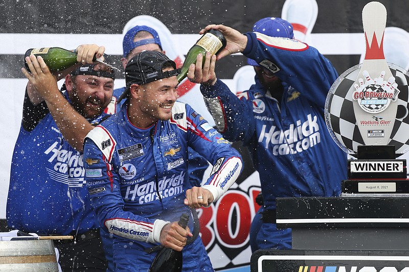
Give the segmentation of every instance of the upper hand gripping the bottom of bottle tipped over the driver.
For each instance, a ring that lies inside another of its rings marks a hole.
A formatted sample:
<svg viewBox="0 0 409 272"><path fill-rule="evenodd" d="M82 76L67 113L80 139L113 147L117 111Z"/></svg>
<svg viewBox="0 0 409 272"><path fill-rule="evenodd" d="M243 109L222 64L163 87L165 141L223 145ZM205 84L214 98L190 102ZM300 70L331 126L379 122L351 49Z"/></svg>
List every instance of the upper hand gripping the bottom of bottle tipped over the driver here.
<svg viewBox="0 0 409 272"><path fill-rule="evenodd" d="M223 24L209 24L209 26L202 29L199 34L204 34L211 29L220 31L227 41L226 47L224 47L223 50L217 54L217 60L225 56L244 51L247 44L247 36L241 34L235 29L223 26Z"/></svg>

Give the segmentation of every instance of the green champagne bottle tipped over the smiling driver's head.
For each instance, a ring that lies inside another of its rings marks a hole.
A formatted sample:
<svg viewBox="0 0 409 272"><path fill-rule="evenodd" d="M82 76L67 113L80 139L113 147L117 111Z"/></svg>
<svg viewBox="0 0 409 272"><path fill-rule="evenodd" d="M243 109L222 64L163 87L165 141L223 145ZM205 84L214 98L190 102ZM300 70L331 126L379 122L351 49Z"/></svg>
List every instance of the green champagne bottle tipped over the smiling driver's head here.
<svg viewBox="0 0 409 272"><path fill-rule="evenodd" d="M196 58L198 54L203 55L203 64L205 63L206 52L210 52L212 55L217 55L223 48L226 47L226 39L220 31L211 29L193 45L188 54L186 55L185 62L181 68L180 74L177 75L177 81L181 82L188 75L190 64L196 64Z"/></svg>

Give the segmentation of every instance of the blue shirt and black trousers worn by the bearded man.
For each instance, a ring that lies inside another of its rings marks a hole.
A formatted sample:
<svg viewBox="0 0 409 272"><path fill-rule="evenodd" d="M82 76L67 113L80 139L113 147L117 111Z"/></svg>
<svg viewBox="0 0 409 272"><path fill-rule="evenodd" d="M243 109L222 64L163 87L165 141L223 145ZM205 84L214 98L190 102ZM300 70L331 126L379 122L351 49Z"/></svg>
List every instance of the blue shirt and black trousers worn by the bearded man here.
<svg viewBox="0 0 409 272"><path fill-rule="evenodd" d="M66 92L65 98L70 102ZM96 125L115 112L115 101L111 101L100 116L88 121ZM10 171L8 226L27 233L73 235L75 242L65 241L76 248L54 241L63 269L78 264L81 270L88 262L105 269L99 222L85 188L82 153L64 139L46 102L33 105L27 90L22 116ZM81 238L90 235L96 239ZM78 248L79 253L72 252Z"/></svg>

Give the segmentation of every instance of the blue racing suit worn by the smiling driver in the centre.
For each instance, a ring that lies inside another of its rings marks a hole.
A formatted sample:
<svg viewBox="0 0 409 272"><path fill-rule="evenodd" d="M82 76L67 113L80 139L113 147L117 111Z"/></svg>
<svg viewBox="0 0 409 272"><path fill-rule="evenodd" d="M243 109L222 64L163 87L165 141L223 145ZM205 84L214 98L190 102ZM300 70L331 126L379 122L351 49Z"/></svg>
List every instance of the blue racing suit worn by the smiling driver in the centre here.
<svg viewBox="0 0 409 272"><path fill-rule="evenodd" d="M144 250L186 212L188 146L214 165L202 187L217 201L240 175L241 156L187 104L176 102L170 120L147 129L129 122L124 104L87 135L87 187L101 225L114 234L116 271L147 271L156 254ZM183 269L213 270L200 236L185 246Z"/></svg>

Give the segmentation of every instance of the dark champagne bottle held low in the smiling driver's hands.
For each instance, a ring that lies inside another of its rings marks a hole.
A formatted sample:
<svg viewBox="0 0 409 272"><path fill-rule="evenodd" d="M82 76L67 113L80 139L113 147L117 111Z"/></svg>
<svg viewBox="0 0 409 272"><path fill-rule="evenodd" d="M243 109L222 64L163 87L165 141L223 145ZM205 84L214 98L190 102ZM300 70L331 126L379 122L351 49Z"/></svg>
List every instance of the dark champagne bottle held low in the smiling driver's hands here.
<svg viewBox="0 0 409 272"><path fill-rule="evenodd" d="M180 216L178 224L182 228L186 228L189 221L189 215L184 213ZM182 270L183 254L181 251L175 251L163 247L155 256L148 272L180 272Z"/></svg>

